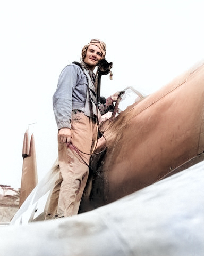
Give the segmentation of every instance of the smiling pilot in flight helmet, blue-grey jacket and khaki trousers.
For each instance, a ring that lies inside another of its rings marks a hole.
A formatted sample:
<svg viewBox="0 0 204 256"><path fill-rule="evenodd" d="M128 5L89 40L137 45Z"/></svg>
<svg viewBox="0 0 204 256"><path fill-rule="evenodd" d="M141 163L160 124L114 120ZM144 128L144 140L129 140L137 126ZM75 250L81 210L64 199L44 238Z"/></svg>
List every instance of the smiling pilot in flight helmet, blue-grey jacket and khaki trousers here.
<svg viewBox="0 0 204 256"><path fill-rule="evenodd" d="M82 49L81 62L73 62L62 70L53 95L60 166L60 178L52 195L53 198L58 197L56 218L75 215L79 210L88 178L89 158L94 145L93 138L96 138L99 113L94 69L105 55L105 43L98 39L91 40ZM105 109L117 100L117 95L107 99ZM52 197L51 205L55 203ZM52 217L49 212L48 215Z"/></svg>

